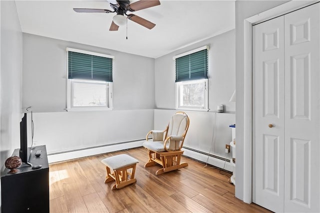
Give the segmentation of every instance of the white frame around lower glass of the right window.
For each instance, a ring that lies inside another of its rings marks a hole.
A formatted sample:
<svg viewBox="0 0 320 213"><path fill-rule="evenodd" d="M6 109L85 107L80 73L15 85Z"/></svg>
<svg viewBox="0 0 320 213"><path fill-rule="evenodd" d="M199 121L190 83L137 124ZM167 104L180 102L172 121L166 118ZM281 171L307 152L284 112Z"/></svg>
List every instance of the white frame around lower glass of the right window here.
<svg viewBox="0 0 320 213"><path fill-rule="evenodd" d="M179 87L180 85L184 84L198 84L198 83L203 83L204 84L204 94L203 94L203 99L204 99L204 106L203 107L187 107L187 106L181 106L180 107L180 91ZM198 79L198 80L191 80L191 81L179 81L175 82L175 109L176 110L191 110L191 111L208 111L208 79Z"/></svg>

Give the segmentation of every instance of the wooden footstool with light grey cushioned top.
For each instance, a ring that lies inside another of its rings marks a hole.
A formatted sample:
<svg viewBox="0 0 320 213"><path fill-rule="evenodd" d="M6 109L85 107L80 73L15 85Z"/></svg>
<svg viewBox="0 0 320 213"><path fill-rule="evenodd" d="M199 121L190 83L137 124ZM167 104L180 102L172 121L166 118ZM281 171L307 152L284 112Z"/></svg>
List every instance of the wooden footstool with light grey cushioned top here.
<svg viewBox="0 0 320 213"><path fill-rule="evenodd" d="M136 182L134 178L135 166L139 162L135 158L121 154L105 158L101 162L106 168L104 183L115 180L115 184L111 187L111 190L121 189ZM128 171L129 169L131 169L131 172ZM113 173L110 170L113 170Z"/></svg>

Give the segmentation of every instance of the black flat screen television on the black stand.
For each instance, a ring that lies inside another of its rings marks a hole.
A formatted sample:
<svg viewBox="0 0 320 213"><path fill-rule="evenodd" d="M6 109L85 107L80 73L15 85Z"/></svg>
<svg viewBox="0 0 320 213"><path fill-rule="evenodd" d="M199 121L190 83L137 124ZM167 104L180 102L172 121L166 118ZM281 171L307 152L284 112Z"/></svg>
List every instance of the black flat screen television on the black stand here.
<svg viewBox="0 0 320 213"><path fill-rule="evenodd" d="M30 156L30 149L28 149L28 140L27 140L27 118L26 113L21 119L20 122L20 150L19 150L19 157L23 163L28 164L29 156Z"/></svg>

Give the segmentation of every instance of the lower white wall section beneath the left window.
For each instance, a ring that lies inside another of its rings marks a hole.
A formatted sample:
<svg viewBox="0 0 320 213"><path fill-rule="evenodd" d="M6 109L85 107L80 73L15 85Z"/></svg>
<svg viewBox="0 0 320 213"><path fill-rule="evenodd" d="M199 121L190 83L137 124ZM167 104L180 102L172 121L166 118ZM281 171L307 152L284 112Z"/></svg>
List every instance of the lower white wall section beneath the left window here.
<svg viewBox="0 0 320 213"><path fill-rule="evenodd" d="M145 138L153 109L33 113L36 145L48 154Z"/></svg>

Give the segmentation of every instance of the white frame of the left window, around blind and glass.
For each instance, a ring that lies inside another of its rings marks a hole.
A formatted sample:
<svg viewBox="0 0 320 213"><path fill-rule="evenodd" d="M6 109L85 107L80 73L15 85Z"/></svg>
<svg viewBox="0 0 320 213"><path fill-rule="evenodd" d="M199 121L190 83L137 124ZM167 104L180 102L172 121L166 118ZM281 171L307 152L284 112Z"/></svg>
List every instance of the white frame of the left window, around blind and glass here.
<svg viewBox="0 0 320 213"><path fill-rule="evenodd" d="M73 48L66 48L66 51L72 51L72 52L79 52L79 53L84 53L84 54L89 54L89 55L95 55L95 56L101 56L101 57L107 57L107 58L112 58L114 59L114 56L112 55L106 55L106 54L101 54L101 53L96 53L96 52L90 52L90 51L85 51L85 50L80 50L80 49L73 49ZM67 59L68 61L68 59ZM113 62L112 62L113 63ZM68 70L68 68L66 69ZM107 96L107 103L106 106L72 106L72 99L73 99L73 91L72 91L72 82L77 81L77 82L86 82L86 83L96 83L96 84L106 84L108 87L108 94ZM81 80L81 79L68 79L67 78L67 85L66 85L66 111L108 111L112 110L112 82L106 82L106 81L91 81L91 80Z"/></svg>

